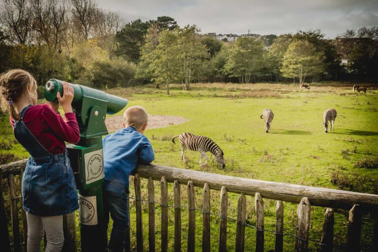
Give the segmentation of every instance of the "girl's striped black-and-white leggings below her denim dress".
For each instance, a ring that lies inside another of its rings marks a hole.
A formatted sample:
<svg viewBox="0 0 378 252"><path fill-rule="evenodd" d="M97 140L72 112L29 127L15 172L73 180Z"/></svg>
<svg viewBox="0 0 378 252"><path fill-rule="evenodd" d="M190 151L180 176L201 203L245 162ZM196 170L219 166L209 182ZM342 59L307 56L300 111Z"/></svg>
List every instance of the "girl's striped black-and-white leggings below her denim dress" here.
<svg viewBox="0 0 378 252"><path fill-rule="evenodd" d="M28 221L28 252L41 251L41 241L45 232L47 240L45 252L62 251L63 215L41 217L26 213L26 219Z"/></svg>

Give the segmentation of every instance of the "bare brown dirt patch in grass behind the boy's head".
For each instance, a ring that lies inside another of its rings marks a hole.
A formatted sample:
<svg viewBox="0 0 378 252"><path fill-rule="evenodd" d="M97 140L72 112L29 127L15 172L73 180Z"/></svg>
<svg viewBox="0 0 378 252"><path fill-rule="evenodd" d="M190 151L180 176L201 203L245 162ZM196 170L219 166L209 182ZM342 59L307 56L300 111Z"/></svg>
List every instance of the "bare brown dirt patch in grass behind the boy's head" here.
<svg viewBox="0 0 378 252"><path fill-rule="evenodd" d="M116 131L122 128L122 116L112 116L105 119L106 127L109 132ZM167 115L149 115L148 117L148 126L149 128L161 128L176 124L183 124L188 122L189 119L180 116L167 116Z"/></svg>

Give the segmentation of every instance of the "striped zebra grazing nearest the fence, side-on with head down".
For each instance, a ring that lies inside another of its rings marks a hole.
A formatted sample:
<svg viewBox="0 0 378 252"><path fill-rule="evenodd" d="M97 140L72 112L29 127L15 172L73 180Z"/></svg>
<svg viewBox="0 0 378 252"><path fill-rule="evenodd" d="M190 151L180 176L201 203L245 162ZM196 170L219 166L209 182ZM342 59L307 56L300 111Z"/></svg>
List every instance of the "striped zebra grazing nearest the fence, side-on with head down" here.
<svg viewBox="0 0 378 252"><path fill-rule="evenodd" d="M206 158L205 165L207 165L208 157L206 156L207 152L211 152L215 156L215 160L222 169L226 166L224 164L223 151L221 148L214 143L213 140L207 138L206 136L197 136L189 132L181 133L178 136L174 136L171 141L175 143L175 138L179 138L181 144L181 159L185 162L184 151L189 149L190 151L199 151L201 157L199 158L199 164L202 165L202 158Z"/></svg>

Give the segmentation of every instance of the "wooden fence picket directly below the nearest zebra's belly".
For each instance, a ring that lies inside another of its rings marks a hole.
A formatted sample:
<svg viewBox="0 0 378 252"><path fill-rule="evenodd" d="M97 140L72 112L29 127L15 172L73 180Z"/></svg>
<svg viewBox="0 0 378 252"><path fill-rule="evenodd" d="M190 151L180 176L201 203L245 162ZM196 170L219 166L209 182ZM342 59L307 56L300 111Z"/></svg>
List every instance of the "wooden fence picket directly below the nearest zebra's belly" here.
<svg viewBox="0 0 378 252"><path fill-rule="evenodd" d="M195 248L195 196L193 182L188 182L188 252L194 252Z"/></svg>

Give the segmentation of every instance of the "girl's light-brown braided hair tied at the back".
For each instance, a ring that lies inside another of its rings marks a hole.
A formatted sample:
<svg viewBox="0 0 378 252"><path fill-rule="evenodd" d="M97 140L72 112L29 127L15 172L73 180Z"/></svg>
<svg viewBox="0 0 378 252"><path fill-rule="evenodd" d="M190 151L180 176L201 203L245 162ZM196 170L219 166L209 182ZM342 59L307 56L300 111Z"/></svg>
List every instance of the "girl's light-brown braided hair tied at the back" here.
<svg viewBox="0 0 378 252"><path fill-rule="evenodd" d="M13 120L20 120L20 111L15 110L13 103L19 101L30 85L32 85L31 88L35 88L37 82L25 70L11 69L0 75L1 108L3 110L8 109Z"/></svg>

